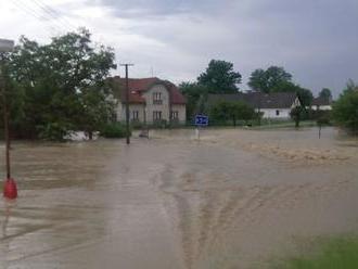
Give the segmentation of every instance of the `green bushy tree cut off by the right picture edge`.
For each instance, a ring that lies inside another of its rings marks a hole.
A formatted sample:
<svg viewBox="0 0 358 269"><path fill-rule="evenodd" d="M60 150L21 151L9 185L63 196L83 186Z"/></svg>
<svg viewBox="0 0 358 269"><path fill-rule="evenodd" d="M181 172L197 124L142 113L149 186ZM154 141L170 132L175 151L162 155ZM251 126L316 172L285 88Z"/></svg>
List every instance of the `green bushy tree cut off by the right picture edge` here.
<svg viewBox="0 0 358 269"><path fill-rule="evenodd" d="M333 104L333 119L343 128L358 133L358 86L349 80L340 99Z"/></svg>

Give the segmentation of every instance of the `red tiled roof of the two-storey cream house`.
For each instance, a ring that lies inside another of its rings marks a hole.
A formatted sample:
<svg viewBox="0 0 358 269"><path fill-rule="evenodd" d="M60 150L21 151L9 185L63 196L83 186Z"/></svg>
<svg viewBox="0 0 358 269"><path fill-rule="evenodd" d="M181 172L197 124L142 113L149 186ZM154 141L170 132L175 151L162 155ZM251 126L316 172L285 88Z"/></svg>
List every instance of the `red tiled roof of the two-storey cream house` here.
<svg viewBox="0 0 358 269"><path fill-rule="evenodd" d="M114 89L118 91L116 94L122 101L126 100L125 88L126 78L113 77L110 80L114 84ZM170 93L171 104L186 104L187 100L181 94L177 86L168 80L162 80L157 77L149 78L128 78L129 101L130 103L145 103L145 99L141 95L144 91L151 89L154 85L164 85Z"/></svg>

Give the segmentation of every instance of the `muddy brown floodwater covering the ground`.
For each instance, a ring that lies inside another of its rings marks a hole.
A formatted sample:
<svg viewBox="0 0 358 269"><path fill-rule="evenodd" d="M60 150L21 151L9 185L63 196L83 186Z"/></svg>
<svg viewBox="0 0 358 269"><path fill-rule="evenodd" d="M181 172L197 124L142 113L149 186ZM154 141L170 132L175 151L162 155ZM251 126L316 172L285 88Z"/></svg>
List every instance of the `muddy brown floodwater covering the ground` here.
<svg viewBox="0 0 358 269"><path fill-rule="evenodd" d="M0 269L265 268L305 239L358 231L355 138L150 134L129 146L14 142L20 196L0 200Z"/></svg>

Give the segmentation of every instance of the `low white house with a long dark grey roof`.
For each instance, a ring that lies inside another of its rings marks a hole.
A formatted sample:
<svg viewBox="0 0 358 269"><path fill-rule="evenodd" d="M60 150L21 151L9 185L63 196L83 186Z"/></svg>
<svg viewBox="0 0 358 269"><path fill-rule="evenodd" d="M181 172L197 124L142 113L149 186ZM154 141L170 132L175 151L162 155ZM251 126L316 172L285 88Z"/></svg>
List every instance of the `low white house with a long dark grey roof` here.
<svg viewBox="0 0 358 269"><path fill-rule="evenodd" d="M218 101L241 101L263 113L264 118L285 119L290 117L293 107L299 106L301 102L296 93L292 92L238 92L234 94L208 94L208 104Z"/></svg>

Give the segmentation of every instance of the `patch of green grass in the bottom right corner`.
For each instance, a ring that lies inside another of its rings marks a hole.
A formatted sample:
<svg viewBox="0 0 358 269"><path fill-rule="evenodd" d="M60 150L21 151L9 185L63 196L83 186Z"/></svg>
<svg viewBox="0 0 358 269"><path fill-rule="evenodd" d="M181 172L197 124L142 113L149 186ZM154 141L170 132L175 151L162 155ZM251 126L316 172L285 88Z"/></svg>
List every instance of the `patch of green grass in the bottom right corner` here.
<svg viewBox="0 0 358 269"><path fill-rule="evenodd" d="M272 269L357 269L358 238L320 240L310 253L283 259Z"/></svg>

